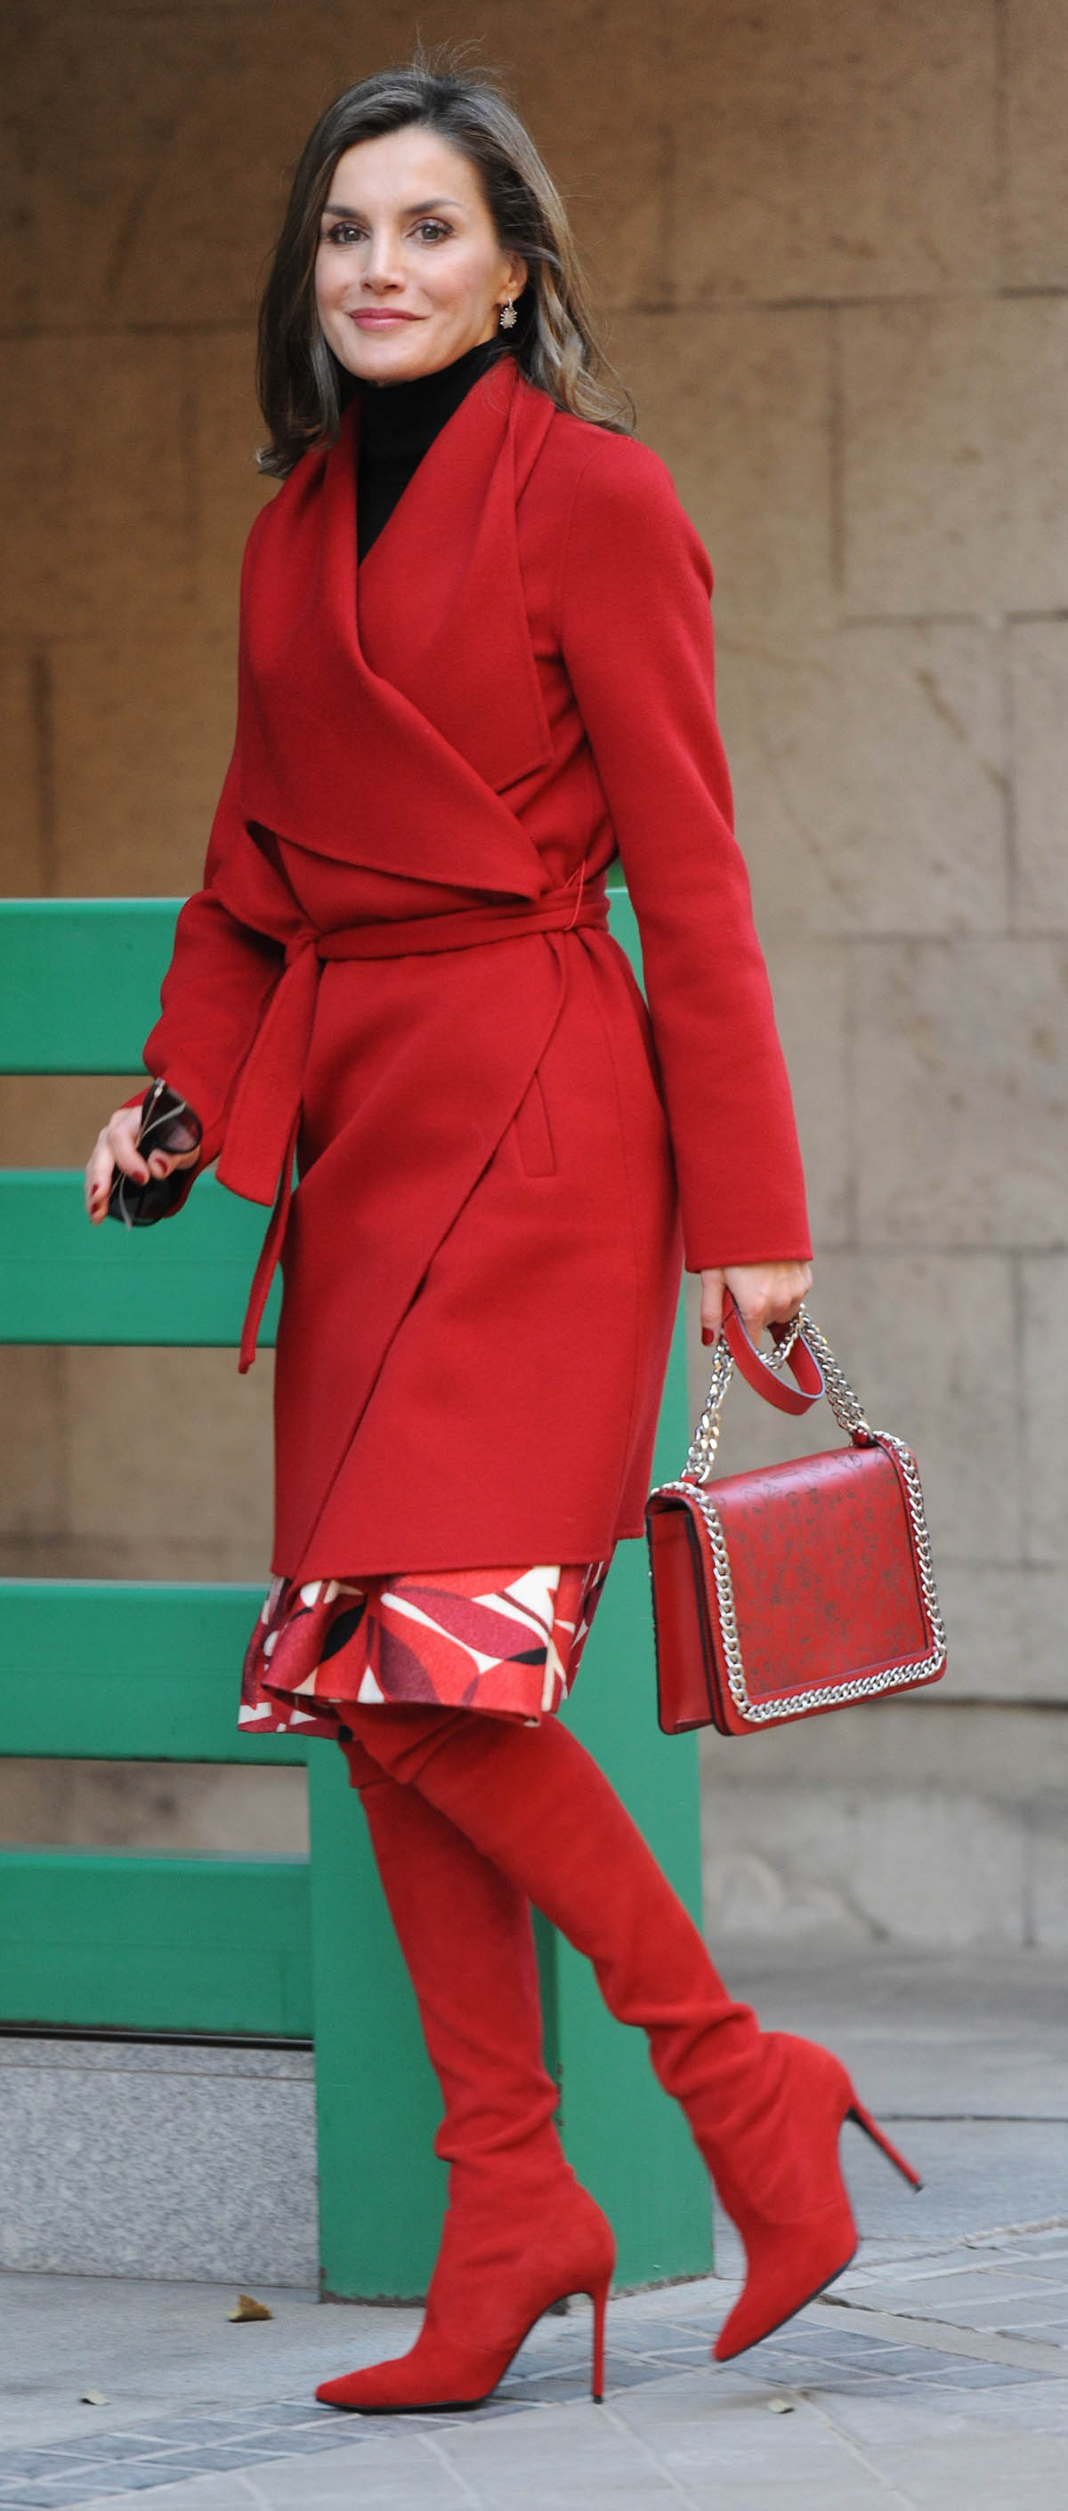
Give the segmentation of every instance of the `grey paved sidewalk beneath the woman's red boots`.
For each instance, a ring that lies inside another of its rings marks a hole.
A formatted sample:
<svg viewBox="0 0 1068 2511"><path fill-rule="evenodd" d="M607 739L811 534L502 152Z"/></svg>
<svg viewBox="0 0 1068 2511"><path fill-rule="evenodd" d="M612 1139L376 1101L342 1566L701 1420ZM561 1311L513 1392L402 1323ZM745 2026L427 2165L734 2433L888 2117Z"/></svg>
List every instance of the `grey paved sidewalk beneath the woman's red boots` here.
<svg viewBox="0 0 1068 2511"><path fill-rule="evenodd" d="M716 2277L621 2295L608 2398L588 2305L538 2325L475 2416L344 2418L314 2383L410 2340L412 2313L266 2293L8 2275L0 2511L1063 2511L1068 2501L1068 1966L734 1959L766 2021L832 2039L925 2172L852 2129L857 2265L736 2365ZM80 2403L80 2390L106 2406Z"/></svg>

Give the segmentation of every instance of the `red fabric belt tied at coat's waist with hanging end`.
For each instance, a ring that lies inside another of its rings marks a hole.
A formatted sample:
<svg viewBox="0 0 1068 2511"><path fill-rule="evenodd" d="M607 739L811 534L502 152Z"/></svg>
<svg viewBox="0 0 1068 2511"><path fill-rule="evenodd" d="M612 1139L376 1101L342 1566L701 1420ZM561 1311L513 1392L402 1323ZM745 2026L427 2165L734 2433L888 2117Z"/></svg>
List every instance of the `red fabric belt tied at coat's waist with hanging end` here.
<svg viewBox="0 0 1068 2511"><path fill-rule="evenodd" d="M329 934L307 929L286 942L286 964L236 1085L219 1158L219 1178L231 1193L246 1195L251 1203L274 1200L241 1331L241 1371L251 1368L256 1358L256 1333L286 1233L304 1065L324 962L430 957L442 949L480 949L485 942L523 942L530 934L588 932L591 927L601 932L608 927L606 889L598 884L586 891L583 879L578 879L545 899L462 906L445 917L347 924Z"/></svg>

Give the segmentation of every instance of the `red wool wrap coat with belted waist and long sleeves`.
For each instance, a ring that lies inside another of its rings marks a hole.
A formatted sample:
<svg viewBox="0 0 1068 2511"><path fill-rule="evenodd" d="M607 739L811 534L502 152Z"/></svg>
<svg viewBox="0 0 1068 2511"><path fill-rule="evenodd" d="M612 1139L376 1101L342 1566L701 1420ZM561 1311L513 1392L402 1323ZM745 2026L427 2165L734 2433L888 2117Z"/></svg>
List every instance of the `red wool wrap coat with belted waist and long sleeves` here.
<svg viewBox="0 0 1068 2511"><path fill-rule="evenodd" d="M508 359L357 580L354 427L249 535L146 1065L274 1203L274 1569L598 1559L641 1532L678 1213L691 1268L809 1250L709 560L656 454Z"/></svg>

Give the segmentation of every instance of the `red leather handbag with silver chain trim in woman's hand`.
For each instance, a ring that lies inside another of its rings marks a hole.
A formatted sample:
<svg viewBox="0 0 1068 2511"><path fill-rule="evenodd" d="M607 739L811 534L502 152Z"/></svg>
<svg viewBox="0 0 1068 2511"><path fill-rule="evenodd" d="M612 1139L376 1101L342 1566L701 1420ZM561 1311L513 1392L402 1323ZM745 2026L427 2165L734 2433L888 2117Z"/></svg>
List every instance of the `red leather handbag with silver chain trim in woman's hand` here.
<svg viewBox="0 0 1068 2511"><path fill-rule="evenodd" d="M756 1735L945 1672L927 1519L912 1451L875 1431L819 1326L774 1326L774 1358L734 1301L678 1481L646 1507L656 1690L666 1735ZM779 1368L789 1366L797 1386ZM779 1411L827 1394L849 1446L711 1481L734 1366Z"/></svg>

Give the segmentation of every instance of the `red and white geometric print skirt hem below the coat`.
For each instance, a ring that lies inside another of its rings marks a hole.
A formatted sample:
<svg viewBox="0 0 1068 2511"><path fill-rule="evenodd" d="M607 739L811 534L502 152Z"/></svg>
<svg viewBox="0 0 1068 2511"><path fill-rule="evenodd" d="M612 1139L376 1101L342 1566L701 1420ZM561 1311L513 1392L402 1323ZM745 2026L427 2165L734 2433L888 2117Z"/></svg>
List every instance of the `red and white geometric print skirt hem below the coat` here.
<svg viewBox="0 0 1068 2511"><path fill-rule="evenodd" d="M568 1697L608 1562L276 1577L251 1632L239 1725L347 1735L344 1702L417 1700L538 1723Z"/></svg>

